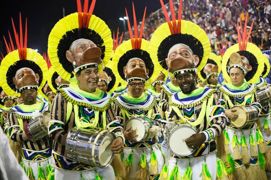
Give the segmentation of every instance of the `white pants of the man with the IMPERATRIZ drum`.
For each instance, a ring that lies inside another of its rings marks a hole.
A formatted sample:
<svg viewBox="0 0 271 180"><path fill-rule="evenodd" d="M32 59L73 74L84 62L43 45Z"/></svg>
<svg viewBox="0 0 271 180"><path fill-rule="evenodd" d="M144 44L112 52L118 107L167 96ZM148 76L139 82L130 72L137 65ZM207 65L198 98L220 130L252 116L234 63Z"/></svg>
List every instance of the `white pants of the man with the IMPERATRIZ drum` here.
<svg viewBox="0 0 271 180"><path fill-rule="evenodd" d="M115 174L112 166L106 168L96 168L96 171L104 180L115 180ZM95 170L91 169L89 171L82 171L82 177L85 180L95 180ZM54 169L54 179L55 180L79 180L81 178L80 171L64 171L64 169L55 168Z"/></svg>

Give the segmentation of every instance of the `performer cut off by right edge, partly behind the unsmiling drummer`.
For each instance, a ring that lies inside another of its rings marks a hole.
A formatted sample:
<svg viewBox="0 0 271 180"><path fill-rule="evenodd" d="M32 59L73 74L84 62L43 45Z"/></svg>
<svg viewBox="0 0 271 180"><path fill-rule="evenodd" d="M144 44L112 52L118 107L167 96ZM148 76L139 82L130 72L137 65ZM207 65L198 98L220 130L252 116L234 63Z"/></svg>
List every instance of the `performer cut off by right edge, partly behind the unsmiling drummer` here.
<svg viewBox="0 0 271 180"><path fill-rule="evenodd" d="M269 60L263 55L262 60L264 60L264 69L263 72L255 83L257 88L267 88L269 90L268 84L264 79L270 72L270 63ZM259 114L259 121L257 125L262 132L264 142L266 144L266 153L265 155L265 169L271 171L271 122L270 122L270 102L261 102L262 110Z"/></svg>

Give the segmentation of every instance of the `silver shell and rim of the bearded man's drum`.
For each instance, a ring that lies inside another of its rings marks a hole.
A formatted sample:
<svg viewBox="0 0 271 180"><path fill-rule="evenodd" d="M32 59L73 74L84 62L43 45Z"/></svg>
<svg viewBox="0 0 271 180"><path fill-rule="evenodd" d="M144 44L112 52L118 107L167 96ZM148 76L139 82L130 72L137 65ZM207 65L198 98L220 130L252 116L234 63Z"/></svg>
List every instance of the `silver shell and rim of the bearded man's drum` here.
<svg viewBox="0 0 271 180"><path fill-rule="evenodd" d="M168 146L168 148L170 149L170 151L171 152L173 152L174 154L177 154L177 155L180 155L180 156L189 156L189 155L191 155L191 154L193 154L195 151L196 151L196 149L193 149L190 153L188 153L188 154L178 154L177 152L174 152L173 150L172 150L172 148L171 148L171 144L169 143L170 142L170 139L171 139L171 134L174 132L174 131L176 131L176 130L178 130L179 128L181 128L181 127L183 127L183 126L187 126L187 127L190 127L193 131L194 131L194 133L196 134L196 133L198 133L198 130L195 128L195 127L193 127L193 126L191 126L191 125L189 125L189 124L179 124L179 123L177 123L177 122L170 122L170 123L168 123L167 125L166 125L166 133L165 133L165 142L166 142L166 144L167 144L167 146ZM175 141L176 142L176 141ZM178 142L176 142L176 143L178 143ZM174 143L174 144L176 144L176 143ZM181 147L180 147L181 148Z"/></svg>

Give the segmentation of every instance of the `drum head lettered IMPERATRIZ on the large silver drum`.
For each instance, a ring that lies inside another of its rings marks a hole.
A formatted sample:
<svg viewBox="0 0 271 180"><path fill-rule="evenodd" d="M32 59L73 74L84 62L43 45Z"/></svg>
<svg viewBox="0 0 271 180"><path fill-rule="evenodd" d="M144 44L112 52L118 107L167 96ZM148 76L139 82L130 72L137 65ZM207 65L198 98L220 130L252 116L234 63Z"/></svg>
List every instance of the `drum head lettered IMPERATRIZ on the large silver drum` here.
<svg viewBox="0 0 271 180"><path fill-rule="evenodd" d="M100 144L99 161L101 166L106 166L112 159L113 152L110 149L110 145L113 140L114 140L113 134L108 133L105 135Z"/></svg>

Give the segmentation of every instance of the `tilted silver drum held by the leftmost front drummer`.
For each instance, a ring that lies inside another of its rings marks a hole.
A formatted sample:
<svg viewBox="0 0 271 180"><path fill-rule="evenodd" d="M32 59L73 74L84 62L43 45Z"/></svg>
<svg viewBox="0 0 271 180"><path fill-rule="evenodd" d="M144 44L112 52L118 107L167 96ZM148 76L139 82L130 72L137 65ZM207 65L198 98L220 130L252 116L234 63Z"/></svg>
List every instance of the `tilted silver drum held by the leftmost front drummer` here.
<svg viewBox="0 0 271 180"><path fill-rule="evenodd" d="M39 117L27 123L28 133L31 134L31 141L43 139L48 136L48 124L50 119L50 111L44 111Z"/></svg>

